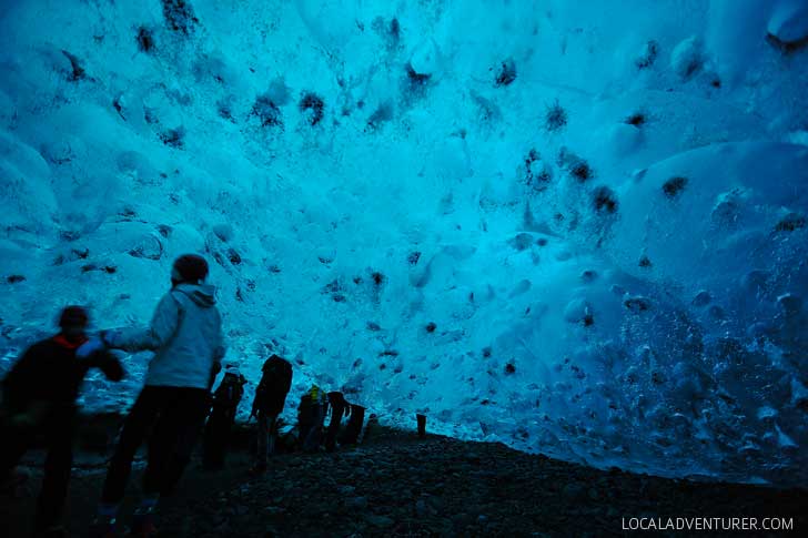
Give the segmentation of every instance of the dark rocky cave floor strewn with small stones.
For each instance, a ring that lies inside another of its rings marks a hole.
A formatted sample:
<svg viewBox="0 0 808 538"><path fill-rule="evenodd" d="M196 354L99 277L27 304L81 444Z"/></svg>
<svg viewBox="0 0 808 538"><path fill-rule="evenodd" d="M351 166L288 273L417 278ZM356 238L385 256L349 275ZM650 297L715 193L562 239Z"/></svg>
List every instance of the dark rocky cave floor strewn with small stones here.
<svg viewBox="0 0 808 538"><path fill-rule="evenodd" d="M277 455L257 478L248 475L245 444L220 473L194 463L162 506L160 536L600 537L633 534L623 530L630 517L776 516L794 518L795 530L785 534L808 528L805 490L602 471L499 444L418 439L380 428L363 445L335 454ZM37 460L28 457L30 479L2 498L0 536L26 536L39 487ZM102 457L83 451L77 458L65 515L72 536L85 536L103 470ZM123 507L124 522L131 510Z"/></svg>

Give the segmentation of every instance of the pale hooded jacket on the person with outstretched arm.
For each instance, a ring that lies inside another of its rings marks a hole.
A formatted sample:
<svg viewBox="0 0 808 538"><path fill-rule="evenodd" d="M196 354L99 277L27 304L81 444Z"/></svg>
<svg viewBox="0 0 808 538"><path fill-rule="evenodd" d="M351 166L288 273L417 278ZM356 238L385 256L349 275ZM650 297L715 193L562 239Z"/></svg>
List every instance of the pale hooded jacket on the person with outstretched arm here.
<svg viewBox="0 0 808 538"><path fill-rule="evenodd" d="M145 384L209 389L214 363L224 356L222 318L206 284L178 284L166 293L147 328L125 328L111 347L153 351Z"/></svg>

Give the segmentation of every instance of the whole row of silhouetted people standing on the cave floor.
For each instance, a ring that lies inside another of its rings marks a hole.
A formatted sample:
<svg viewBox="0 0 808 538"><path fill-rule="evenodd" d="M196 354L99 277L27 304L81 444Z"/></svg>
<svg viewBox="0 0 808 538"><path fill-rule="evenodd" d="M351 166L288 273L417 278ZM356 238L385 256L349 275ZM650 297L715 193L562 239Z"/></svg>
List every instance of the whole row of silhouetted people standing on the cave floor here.
<svg viewBox="0 0 808 538"><path fill-rule="evenodd" d="M102 331L89 336L89 317L81 306L69 306L59 318L58 335L28 348L2 382L0 406L0 480L13 483L13 469L22 455L44 434L47 459L37 506L34 536L67 536L61 512L72 466L77 423L77 398L91 368L100 368L117 382L124 376L120 361L110 349L152 351L145 383L127 415L109 463L98 515L91 536L115 536L119 505L140 446L148 440L148 461L142 497L130 531L153 536L155 510L161 496L173 491L200 432L203 434L203 466L224 466L228 440L242 399L246 379L235 365L228 365L222 382L211 395L225 354L221 316L214 287L205 283L208 263L186 254L176 258L171 288L161 298L145 328ZM292 364L277 355L263 365L250 418L257 422L255 464L263 473L267 456L275 450L279 416L292 384ZM326 414L332 419L324 427ZM342 434L343 416L351 416ZM297 409L299 446L306 451L334 450L339 444L356 443L364 408L349 404L342 393L325 394L313 386ZM205 424L206 419L206 424Z"/></svg>

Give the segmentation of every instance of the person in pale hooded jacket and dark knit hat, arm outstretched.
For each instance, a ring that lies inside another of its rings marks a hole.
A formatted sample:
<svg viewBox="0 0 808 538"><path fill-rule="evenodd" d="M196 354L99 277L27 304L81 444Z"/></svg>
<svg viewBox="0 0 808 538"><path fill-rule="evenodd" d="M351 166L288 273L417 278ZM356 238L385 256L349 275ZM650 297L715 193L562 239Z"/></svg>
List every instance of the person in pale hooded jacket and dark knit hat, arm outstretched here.
<svg viewBox="0 0 808 538"><path fill-rule="evenodd" d="M94 526L100 536L114 532L132 459L148 435L143 498L132 524L135 535L154 532L158 499L173 490L191 459L224 356L215 288L204 283L206 276L208 263L202 256L180 256L172 268L172 287L158 304L151 324L103 333L111 348L152 351L154 357L110 461Z"/></svg>

